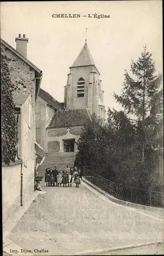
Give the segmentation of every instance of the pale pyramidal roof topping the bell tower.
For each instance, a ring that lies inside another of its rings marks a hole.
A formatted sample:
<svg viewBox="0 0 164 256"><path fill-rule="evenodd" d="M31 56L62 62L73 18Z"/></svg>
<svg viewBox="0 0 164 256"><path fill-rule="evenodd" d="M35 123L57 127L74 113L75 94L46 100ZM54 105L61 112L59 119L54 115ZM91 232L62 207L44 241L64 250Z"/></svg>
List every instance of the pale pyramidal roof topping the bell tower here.
<svg viewBox="0 0 164 256"><path fill-rule="evenodd" d="M83 49L80 51L78 57L74 61L72 67L91 66L91 65L94 65L96 67L86 42Z"/></svg>

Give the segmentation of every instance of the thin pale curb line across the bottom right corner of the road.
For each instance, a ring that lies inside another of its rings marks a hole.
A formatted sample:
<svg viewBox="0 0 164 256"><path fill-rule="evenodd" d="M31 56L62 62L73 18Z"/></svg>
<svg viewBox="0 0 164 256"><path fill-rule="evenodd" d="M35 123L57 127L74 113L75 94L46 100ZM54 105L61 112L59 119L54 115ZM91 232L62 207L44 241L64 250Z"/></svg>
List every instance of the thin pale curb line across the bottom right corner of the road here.
<svg viewBox="0 0 164 256"><path fill-rule="evenodd" d="M83 252L76 252L74 255L88 255L89 253L92 254L98 254L98 253L103 253L103 252L112 252L112 251L119 251L119 250L125 250L125 249L130 249L130 248L138 248L138 247L143 247L147 245L154 245L154 244L163 244L163 241L154 241L154 242L148 242L148 243L142 243L142 244L131 244L127 246L118 246L118 247L113 247L113 248L106 248L106 249L98 249L98 250L88 250L88 251L83 251Z"/></svg>

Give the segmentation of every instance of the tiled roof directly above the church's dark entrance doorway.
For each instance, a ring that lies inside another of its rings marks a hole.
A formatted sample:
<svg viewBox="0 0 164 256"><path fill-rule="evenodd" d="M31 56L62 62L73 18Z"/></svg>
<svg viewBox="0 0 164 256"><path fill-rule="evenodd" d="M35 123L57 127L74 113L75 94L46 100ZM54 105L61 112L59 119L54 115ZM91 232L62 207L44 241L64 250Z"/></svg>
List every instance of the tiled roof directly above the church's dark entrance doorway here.
<svg viewBox="0 0 164 256"><path fill-rule="evenodd" d="M48 128L84 125L88 118L86 109L57 111L54 113Z"/></svg>

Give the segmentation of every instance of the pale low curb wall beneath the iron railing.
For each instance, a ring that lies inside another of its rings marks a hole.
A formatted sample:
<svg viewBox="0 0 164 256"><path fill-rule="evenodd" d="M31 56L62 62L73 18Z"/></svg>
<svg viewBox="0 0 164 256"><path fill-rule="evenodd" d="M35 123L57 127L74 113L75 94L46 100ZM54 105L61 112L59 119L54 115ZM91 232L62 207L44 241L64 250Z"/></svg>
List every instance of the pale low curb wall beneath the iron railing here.
<svg viewBox="0 0 164 256"><path fill-rule="evenodd" d="M106 191L100 189L99 187L93 185L91 182L89 182L85 178L83 178L82 180L86 184L88 184L89 186L91 186L92 188L97 190L100 194L102 194L105 197L107 197L108 199L110 199L112 202L115 202L115 203L123 205L123 206L130 207L130 208L133 208L133 209L136 209L136 210L140 210L140 211L144 211L144 212L147 211L149 214L156 214L158 216L161 216L161 218L163 219L163 213L164 213L163 208L147 206L147 205L142 205L142 204L136 204L136 203L131 203L131 202L128 202L128 201L120 200L118 198L115 198L115 197L111 196L110 194L108 194ZM155 211L153 211L153 210L155 210Z"/></svg>

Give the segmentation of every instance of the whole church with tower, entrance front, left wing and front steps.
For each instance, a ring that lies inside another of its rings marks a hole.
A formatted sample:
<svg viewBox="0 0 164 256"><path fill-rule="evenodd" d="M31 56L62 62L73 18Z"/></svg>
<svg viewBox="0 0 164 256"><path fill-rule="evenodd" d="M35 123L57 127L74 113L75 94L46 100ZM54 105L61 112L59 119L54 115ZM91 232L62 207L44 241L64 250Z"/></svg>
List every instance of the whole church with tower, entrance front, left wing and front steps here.
<svg viewBox="0 0 164 256"><path fill-rule="evenodd" d="M43 141L41 146L45 152L45 160L38 171L45 170L46 165L52 167L54 163L59 170L67 164L72 165L78 151L77 142L86 120L91 119L94 113L105 120L100 73L88 48L87 40L69 69L67 84L64 87L64 102L59 103L40 89L42 93L39 94L36 108L36 138L39 138L38 143ZM49 112L51 114L47 118L42 118L48 119L43 129L43 124L39 124L39 108L43 101L50 106L49 97L52 98ZM39 129L42 130L42 134L38 136Z"/></svg>

